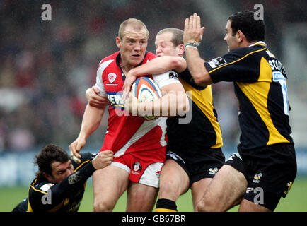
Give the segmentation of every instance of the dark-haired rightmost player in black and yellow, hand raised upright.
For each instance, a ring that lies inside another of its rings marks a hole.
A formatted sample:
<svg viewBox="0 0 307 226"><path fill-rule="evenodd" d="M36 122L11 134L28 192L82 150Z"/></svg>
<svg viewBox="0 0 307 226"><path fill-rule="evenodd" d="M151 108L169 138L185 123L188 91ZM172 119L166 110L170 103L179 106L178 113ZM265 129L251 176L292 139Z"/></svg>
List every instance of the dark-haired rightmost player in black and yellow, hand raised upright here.
<svg viewBox="0 0 307 226"><path fill-rule="evenodd" d="M273 211L296 177L290 136L286 71L267 49L265 23L253 11L230 16L224 40L228 54L199 57L204 27L195 13L185 20L187 66L199 85L231 81L238 98L241 143L199 202L199 211L226 211L243 197L239 211ZM260 198L261 197L261 198Z"/></svg>

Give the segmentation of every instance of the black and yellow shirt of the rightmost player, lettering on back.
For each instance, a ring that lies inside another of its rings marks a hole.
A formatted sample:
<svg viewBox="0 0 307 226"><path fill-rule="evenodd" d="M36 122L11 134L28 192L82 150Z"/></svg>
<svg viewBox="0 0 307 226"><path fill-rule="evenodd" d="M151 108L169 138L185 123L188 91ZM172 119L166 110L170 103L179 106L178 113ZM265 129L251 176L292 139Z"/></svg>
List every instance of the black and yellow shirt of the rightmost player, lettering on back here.
<svg viewBox="0 0 307 226"><path fill-rule="evenodd" d="M235 49L204 65L213 83L232 81L238 98L241 148L293 143L286 71L265 42Z"/></svg>

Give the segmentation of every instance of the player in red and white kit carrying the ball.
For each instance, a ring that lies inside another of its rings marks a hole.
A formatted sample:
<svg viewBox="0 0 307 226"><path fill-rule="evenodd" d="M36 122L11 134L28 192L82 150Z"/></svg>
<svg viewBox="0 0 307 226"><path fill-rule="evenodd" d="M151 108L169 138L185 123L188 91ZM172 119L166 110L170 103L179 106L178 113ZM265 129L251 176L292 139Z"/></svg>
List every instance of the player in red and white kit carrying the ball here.
<svg viewBox="0 0 307 226"><path fill-rule="evenodd" d="M120 25L116 37L120 51L100 61L97 71L95 88L104 97L103 106L86 106L79 136L69 147L79 157L86 138L98 128L110 102L108 131L100 151L112 150L115 157L110 166L93 174L95 211L112 211L126 190L127 211L151 211L156 202L159 175L166 158L166 118L151 122L124 114L122 95L129 70L156 57L146 52L148 38L149 32L140 20L130 18ZM185 95L178 79L170 78L168 73L158 77L155 81L161 92L181 90Z"/></svg>

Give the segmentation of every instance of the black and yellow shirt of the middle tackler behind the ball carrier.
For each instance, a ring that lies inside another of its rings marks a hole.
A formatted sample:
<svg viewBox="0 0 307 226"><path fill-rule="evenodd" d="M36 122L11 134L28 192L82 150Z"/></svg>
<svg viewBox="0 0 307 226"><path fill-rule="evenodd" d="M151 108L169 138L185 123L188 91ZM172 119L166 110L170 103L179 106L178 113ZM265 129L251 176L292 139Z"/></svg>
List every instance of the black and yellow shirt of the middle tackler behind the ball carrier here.
<svg viewBox="0 0 307 226"><path fill-rule="evenodd" d="M188 69L178 73L178 76L185 91L192 93L192 96L187 93L192 106L183 117L167 119L167 150L187 152L221 148L221 127L213 105L211 85L202 87L195 84Z"/></svg>

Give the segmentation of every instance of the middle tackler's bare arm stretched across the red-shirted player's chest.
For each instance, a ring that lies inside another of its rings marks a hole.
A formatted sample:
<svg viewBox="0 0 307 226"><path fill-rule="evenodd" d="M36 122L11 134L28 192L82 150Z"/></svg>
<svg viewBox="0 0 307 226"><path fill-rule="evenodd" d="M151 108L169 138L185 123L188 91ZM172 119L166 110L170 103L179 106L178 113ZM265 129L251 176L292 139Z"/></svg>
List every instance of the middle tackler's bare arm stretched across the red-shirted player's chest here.
<svg viewBox="0 0 307 226"><path fill-rule="evenodd" d="M128 97L130 88L137 77L151 74L161 74L170 70L182 72L185 71L186 68L187 63L183 57L162 56L131 69L127 73L126 79L124 80L124 100L126 100Z"/></svg>

